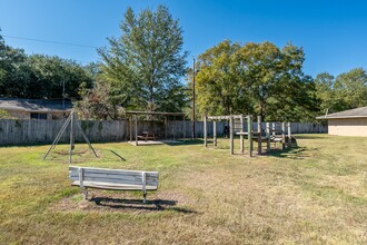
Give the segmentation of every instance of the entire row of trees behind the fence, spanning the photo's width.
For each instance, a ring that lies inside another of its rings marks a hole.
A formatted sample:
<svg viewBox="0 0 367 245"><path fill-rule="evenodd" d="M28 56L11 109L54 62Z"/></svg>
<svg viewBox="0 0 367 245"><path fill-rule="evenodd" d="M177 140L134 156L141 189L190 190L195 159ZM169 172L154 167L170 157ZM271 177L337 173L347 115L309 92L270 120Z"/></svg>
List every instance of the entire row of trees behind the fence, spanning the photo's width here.
<svg viewBox="0 0 367 245"><path fill-rule="evenodd" d="M192 70L182 50L182 29L159 6L129 8L120 36L98 49L101 61L27 56L0 36L0 97L75 98L83 118L120 119L123 110L186 111L192 107ZM334 77L305 75L302 48L225 40L198 57L197 118L205 114L261 115L267 121L314 121L326 111L367 106L363 68ZM184 82L186 78L187 82Z"/></svg>

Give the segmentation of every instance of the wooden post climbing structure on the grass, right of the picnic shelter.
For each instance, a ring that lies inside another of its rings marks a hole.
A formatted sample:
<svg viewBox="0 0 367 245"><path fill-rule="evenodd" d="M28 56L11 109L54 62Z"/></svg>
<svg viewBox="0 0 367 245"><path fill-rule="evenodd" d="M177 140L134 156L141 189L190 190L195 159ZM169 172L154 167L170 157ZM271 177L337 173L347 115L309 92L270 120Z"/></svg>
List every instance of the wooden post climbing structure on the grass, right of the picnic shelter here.
<svg viewBox="0 0 367 245"><path fill-rule="evenodd" d="M230 154L235 154L235 136L239 136L240 153L245 153L245 138L248 141L248 155L254 155L254 141L257 143L258 155L262 154L262 143L266 143L266 151L270 153L270 144L281 144L282 150L286 147L292 146L292 136L290 130L290 122L281 122L281 129L277 130L277 122L265 122L265 130L262 130L261 116L257 117L257 128L254 129L251 115L229 115L229 116L205 116L204 117L204 145L208 147L208 120L212 121L212 143L217 147L217 121L229 120L229 138L230 138ZM247 121L247 128L245 127ZM270 127L271 126L271 127Z"/></svg>

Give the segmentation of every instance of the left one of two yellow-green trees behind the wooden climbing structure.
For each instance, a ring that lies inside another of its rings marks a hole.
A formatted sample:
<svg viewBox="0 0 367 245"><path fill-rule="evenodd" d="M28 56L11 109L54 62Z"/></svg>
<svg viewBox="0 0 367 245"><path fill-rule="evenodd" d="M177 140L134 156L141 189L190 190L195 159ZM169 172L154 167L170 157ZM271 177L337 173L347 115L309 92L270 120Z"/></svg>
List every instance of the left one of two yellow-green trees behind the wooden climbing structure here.
<svg viewBox="0 0 367 245"><path fill-rule="evenodd" d="M199 114L227 115L248 105L248 92L240 86L237 72L239 49L239 43L226 40L199 56L196 84Z"/></svg>

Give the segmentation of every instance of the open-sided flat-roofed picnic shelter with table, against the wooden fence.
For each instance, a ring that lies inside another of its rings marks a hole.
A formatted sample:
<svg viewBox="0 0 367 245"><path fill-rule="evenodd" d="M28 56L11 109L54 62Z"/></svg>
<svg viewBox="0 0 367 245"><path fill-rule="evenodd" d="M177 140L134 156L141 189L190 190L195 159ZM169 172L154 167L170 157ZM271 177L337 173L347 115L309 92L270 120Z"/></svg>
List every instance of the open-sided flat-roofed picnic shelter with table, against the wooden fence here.
<svg viewBox="0 0 367 245"><path fill-rule="evenodd" d="M182 118L182 139L186 140L186 125L185 125L185 114L182 112L159 112L159 111L126 111L125 112L129 119L129 131L130 131L130 139L129 143L135 146L147 146L147 145L162 145L162 144L175 144L179 143L176 135L175 127L171 127L171 138L168 137L168 117L176 117ZM138 129L138 116L160 116L163 117L163 134L159 134L157 129L155 130L140 130ZM140 133L140 134L139 134Z"/></svg>

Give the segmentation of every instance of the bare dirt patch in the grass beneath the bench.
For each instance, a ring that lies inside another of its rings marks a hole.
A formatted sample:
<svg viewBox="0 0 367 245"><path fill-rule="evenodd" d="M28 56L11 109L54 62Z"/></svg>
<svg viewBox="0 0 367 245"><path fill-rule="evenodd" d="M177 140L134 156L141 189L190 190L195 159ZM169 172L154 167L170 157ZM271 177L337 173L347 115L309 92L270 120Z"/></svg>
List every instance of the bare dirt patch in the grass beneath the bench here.
<svg viewBox="0 0 367 245"><path fill-rule="evenodd" d="M129 193L92 190L88 199L82 199L81 194L65 197L54 203L52 212L97 212L97 213L157 213L173 210L179 213L196 213L187 208L192 200L175 192L148 194L146 203L142 198Z"/></svg>

